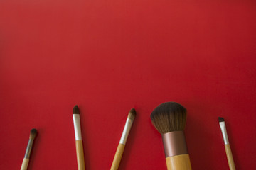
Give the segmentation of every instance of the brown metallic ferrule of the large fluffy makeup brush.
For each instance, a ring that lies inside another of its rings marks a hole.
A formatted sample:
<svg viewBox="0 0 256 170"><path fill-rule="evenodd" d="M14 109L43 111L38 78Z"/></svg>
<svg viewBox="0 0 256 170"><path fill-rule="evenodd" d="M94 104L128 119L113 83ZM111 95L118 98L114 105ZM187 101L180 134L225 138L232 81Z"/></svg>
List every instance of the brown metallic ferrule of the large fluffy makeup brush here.
<svg viewBox="0 0 256 170"><path fill-rule="evenodd" d="M166 157L172 157L178 154L188 154L183 131L164 133L162 134L162 139Z"/></svg>

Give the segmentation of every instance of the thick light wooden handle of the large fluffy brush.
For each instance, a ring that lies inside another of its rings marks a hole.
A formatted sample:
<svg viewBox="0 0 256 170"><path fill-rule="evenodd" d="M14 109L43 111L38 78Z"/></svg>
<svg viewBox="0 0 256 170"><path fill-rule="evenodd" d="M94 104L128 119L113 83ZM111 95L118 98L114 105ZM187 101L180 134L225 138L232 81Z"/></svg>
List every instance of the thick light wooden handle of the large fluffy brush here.
<svg viewBox="0 0 256 170"><path fill-rule="evenodd" d="M166 157L168 170L191 170L191 162L188 154L180 154L174 157Z"/></svg>

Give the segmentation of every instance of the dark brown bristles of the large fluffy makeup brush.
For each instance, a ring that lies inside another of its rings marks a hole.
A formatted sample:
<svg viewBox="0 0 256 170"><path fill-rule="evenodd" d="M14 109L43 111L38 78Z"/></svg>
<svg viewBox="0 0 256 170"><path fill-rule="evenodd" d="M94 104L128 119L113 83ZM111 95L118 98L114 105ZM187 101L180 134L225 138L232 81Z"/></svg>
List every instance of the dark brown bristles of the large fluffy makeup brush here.
<svg viewBox="0 0 256 170"><path fill-rule="evenodd" d="M185 129L186 108L176 102L157 106L150 115L151 121L161 134Z"/></svg>

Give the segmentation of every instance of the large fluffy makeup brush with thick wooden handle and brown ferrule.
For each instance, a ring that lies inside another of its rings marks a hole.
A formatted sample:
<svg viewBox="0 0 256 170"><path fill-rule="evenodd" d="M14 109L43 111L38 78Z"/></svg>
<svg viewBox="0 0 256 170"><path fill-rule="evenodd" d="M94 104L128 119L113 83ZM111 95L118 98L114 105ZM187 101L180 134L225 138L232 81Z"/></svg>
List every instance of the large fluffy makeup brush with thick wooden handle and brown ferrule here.
<svg viewBox="0 0 256 170"><path fill-rule="evenodd" d="M186 108L176 102L157 106L150 115L152 124L161 133L168 170L190 170L191 162L183 130Z"/></svg>

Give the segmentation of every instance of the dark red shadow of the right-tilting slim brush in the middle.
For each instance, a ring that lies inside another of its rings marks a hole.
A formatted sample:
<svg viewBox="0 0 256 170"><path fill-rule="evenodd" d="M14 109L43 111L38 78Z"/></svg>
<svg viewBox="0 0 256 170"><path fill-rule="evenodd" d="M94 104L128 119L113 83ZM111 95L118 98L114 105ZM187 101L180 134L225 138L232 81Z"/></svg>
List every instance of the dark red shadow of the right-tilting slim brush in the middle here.
<svg viewBox="0 0 256 170"><path fill-rule="evenodd" d="M140 121L140 115L138 114L138 109L136 109L136 118L134 119L134 123L132 124L132 128L129 132L129 137L127 139L125 148L124 148L124 153L121 159L121 162L119 164L119 169L126 169L128 164L131 163L131 158L132 158L132 149L134 149L134 140L137 136L137 130L139 127L139 121ZM113 157L114 158L114 157ZM110 165L111 166L111 165Z"/></svg>

